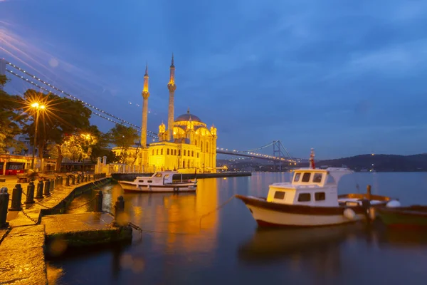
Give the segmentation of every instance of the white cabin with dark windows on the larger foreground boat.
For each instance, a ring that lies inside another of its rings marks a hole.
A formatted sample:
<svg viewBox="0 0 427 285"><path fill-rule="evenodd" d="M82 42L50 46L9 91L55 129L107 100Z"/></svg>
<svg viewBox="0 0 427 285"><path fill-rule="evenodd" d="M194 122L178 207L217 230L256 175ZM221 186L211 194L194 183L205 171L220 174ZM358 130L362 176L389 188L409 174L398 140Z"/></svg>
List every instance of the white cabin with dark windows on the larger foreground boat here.
<svg viewBox="0 0 427 285"><path fill-rule="evenodd" d="M295 170L291 182L270 185L267 202L337 207L338 182L350 173L352 170L339 167Z"/></svg>

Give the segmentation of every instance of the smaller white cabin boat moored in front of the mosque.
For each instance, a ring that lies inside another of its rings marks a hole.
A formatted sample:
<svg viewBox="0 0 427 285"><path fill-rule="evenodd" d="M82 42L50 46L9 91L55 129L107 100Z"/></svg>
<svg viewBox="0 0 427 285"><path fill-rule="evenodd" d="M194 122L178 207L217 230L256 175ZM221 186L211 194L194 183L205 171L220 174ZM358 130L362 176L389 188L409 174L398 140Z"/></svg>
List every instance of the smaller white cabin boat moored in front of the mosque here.
<svg viewBox="0 0 427 285"><path fill-rule="evenodd" d="M139 176L133 181L119 181L125 192L196 192L197 179L182 180L182 174L176 171L166 170L155 172L151 177Z"/></svg>

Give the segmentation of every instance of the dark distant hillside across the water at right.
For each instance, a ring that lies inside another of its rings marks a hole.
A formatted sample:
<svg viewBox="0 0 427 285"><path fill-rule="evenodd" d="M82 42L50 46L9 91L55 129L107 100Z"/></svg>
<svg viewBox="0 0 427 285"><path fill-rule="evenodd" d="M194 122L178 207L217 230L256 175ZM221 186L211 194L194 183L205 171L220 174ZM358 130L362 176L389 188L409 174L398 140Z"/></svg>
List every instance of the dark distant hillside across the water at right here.
<svg viewBox="0 0 427 285"><path fill-rule="evenodd" d="M346 165L355 171L364 169L374 169L380 172L427 171L427 153L420 155L357 155L335 160L316 161L317 167L326 165L330 167Z"/></svg>

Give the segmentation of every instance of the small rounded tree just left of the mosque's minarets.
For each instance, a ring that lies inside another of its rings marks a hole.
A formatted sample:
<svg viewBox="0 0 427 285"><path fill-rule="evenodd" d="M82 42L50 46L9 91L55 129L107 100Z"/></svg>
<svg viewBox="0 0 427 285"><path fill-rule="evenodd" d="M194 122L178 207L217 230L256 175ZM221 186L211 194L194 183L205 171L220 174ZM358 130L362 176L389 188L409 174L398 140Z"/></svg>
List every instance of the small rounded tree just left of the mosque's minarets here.
<svg viewBox="0 0 427 285"><path fill-rule="evenodd" d="M127 150L129 150L129 147L132 147L132 145L135 145L135 140L139 138L137 130L132 127L116 124L107 135L113 145L120 147L120 154L117 155L118 161L125 163L127 157L129 157L129 152Z"/></svg>

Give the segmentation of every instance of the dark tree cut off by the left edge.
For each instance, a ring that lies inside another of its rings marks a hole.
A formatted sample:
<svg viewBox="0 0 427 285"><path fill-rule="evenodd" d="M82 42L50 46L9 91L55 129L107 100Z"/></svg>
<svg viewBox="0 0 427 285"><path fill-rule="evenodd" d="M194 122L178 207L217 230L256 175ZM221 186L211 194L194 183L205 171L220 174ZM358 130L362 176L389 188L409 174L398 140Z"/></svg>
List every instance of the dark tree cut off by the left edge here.
<svg viewBox="0 0 427 285"><path fill-rule="evenodd" d="M9 81L4 75L0 75L0 86L3 88ZM15 140L15 136L21 133L21 125L25 117L19 113L23 100L17 95L9 95L0 88L0 153L9 147L20 151L24 147L22 142Z"/></svg>

